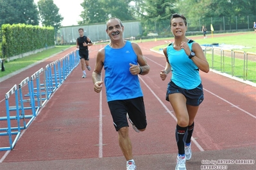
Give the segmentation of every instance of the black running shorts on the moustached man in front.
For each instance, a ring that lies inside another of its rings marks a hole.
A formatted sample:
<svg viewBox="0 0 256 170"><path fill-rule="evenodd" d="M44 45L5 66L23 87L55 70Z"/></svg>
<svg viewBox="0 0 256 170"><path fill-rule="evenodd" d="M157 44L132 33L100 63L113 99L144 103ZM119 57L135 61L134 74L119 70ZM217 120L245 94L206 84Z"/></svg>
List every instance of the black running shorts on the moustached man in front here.
<svg viewBox="0 0 256 170"><path fill-rule="evenodd" d="M115 130L122 127L129 127L126 114L128 113L135 127L138 129L146 128L146 112L143 97L128 100L113 100L108 102Z"/></svg>

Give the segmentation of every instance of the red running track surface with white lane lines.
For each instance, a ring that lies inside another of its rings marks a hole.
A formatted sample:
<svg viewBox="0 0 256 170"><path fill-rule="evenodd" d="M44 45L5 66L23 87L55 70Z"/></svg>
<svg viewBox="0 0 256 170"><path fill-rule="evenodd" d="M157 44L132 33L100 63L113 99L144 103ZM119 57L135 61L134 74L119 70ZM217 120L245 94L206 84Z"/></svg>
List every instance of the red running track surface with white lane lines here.
<svg viewBox="0 0 256 170"><path fill-rule="evenodd" d="M140 76L148 127L141 133L130 129L133 156L142 170L175 169L176 164L176 121L165 100L167 80L159 77L166 60L149 50L160 44L164 42L139 43L151 66L148 75ZM90 49L92 70L98 49L99 45ZM72 50L1 82L1 100L14 84ZM102 97L94 92L91 73L87 71L87 78L82 79L81 66L73 70L22 132L15 148L0 151L0 169L125 169L105 89ZM256 88L214 72L201 72L201 79L205 100L196 117L187 169L200 169L202 160L227 159L254 161L252 165L228 164L228 169L256 169Z"/></svg>

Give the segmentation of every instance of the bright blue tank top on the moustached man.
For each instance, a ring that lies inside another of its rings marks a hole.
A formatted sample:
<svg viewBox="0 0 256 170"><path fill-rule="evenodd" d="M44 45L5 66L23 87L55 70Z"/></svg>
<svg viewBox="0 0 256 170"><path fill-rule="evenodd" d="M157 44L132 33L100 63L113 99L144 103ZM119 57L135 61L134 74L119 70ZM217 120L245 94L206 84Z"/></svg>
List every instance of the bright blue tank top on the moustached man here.
<svg viewBox="0 0 256 170"><path fill-rule="evenodd" d="M126 41L121 49L113 49L109 45L105 47L104 83L108 102L143 96L138 75L130 73L130 63L138 64L131 42Z"/></svg>

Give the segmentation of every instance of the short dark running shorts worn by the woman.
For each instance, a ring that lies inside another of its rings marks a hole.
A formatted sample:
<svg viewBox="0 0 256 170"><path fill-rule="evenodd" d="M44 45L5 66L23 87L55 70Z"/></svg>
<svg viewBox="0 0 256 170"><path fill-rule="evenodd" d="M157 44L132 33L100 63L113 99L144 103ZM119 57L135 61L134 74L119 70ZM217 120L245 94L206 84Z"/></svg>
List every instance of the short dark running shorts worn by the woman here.
<svg viewBox="0 0 256 170"><path fill-rule="evenodd" d="M200 83L194 89L183 89L172 81L167 85L166 100L169 101L169 95L173 93L182 93L187 98L188 105L198 106L203 102L203 85Z"/></svg>

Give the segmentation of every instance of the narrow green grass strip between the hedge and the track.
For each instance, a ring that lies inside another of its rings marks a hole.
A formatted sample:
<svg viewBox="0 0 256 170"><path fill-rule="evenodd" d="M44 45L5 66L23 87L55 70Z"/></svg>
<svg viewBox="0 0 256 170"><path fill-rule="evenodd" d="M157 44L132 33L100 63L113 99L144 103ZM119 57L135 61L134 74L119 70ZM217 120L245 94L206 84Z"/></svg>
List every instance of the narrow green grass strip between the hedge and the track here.
<svg viewBox="0 0 256 170"><path fill-rule="evenodd" d="M63 50L68 49L69 47L72 47L72 46L74 46L74 45L55 46L55 48L53 48L53 49L47 49L42 52L38 52L37 54L32 54L32 55L26 56L24 58L15 59L13 61L5 62L4 63L5 71L0 72L0 77L4 77L5 75L8 75L17 70L21 70L22 68L32 65L33 63L36 63L37 61L40 61L42 59L49 58L49 56L52 56L53 54L56 54L58 52L62 52Z"/></svg>

